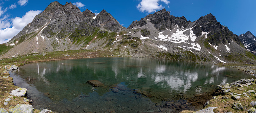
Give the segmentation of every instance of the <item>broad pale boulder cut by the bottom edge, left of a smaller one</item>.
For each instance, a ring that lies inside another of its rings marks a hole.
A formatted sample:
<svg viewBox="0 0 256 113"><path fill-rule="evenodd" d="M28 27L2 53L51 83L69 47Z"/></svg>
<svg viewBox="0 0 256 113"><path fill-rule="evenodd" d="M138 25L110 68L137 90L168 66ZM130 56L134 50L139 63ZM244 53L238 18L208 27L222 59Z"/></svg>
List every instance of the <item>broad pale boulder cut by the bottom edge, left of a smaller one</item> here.
<svg viewBox="0 0 256 113"><path fill-rule="evenodd" d="M33 106L27 104L18 104L14 108L9 109L9 113L33 113L33 111Z"/></svg>

